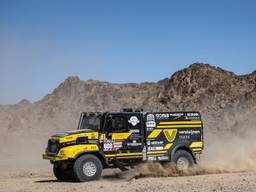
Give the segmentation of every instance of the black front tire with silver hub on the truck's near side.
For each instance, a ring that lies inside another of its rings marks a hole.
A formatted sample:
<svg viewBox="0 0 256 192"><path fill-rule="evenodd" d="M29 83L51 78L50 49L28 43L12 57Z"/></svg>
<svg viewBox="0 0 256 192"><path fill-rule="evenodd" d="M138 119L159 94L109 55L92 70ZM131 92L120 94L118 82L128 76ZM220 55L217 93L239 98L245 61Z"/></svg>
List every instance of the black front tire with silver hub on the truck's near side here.
<svg viewBox="0 0 256 192"><path fill-rule="evenodd" d="M102 163L95 155L82 155L76 160L73 170L77 181L93 181L101 177Z"/></svg>

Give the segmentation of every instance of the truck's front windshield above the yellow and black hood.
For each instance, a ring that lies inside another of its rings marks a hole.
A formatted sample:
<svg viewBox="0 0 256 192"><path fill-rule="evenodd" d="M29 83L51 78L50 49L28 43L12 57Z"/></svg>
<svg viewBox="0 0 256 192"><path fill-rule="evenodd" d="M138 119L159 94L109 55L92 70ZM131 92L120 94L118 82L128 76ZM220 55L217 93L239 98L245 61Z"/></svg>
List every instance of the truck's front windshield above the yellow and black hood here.
<svg viewBox="0 0 256 192"><path fill-rule="evenodd" d="M99 116L83 116L79 129L91 129L98 131L100 129L100 117Z"/></svg>

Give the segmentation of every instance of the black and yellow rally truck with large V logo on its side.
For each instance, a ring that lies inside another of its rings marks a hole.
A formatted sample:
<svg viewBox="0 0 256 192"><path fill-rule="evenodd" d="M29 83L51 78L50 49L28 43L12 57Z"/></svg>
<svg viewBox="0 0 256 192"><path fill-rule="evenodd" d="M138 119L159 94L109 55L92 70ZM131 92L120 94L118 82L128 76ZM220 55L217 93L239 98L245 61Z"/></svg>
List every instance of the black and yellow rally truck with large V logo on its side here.
<svg viewBox="0 0 256 192"><path fill-rule="evenodd" d="M60 181L91 181L105 168L156 161L187 169L203 150L199 112L84 112L78 129L48 140L44 159Z"/></svg>

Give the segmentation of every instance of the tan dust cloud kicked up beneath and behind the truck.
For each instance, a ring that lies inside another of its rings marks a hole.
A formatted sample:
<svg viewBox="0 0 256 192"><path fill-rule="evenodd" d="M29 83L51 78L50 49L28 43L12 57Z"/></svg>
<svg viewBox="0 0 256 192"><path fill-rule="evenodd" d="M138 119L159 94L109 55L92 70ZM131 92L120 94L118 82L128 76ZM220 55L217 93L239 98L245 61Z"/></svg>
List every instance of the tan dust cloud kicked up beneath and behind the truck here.
<svg viewBox="0 0 256 192"><path fill-rule="evenodd" d="M178 177L256 171L255 111L236 113L223 122L223 130L205 127L204 150L198 163L188 170L174 164L145 163L129 170L124 178Z"/></svg>

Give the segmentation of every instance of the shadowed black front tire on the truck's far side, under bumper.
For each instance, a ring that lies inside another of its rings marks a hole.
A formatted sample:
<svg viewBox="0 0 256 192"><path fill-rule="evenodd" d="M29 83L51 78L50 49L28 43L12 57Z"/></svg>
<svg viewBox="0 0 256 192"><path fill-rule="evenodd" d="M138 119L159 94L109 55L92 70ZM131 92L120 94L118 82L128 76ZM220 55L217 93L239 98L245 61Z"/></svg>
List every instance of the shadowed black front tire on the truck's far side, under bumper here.
<svg viewBox="0 0 256 192"><path fill-rule="evenodd" d="M58 181L72 181L74 180L73 165L64 166L61 163L53 165L53 173Z"/></svg>

